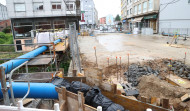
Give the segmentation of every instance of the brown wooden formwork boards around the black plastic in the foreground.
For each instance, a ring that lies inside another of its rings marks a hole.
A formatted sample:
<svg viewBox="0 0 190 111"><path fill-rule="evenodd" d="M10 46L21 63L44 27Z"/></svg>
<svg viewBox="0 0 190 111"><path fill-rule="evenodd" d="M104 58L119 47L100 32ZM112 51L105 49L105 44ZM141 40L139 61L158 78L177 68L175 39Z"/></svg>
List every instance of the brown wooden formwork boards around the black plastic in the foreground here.
<svg viewBox="0 0 190 111"><path fill-rule="evenodd" d="M86 83L88 80L86 77L64 77L67 81L82 81ZM148 108L151 108L153 111L169 111L153 104L146 103L146 101L138 101L128 98L127 96L117 94L117 85L101 82L97 85L104 96L111 99L114 103L122 105L125 109L130 111L145 111ZM93 108L89 105L84 104L85 99L83 93L78 92L74 94L67 91L64 87L56 88L56 91L59 93L59 103L60 108L63 111L96 111L96 108Z"/></svg>

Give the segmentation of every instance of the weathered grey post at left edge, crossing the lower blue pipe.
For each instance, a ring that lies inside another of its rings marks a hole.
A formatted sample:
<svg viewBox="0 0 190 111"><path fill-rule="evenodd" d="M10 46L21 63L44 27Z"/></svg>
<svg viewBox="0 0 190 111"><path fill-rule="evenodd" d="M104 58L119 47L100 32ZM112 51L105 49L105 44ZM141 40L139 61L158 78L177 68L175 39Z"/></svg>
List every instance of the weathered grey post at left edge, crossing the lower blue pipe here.
<svg viewBox="0 0 190 111"><path fill-rule="evenodd" d="M0 80L1 80L1 91L3 93L4 105L10 106L9 93L5 79L5 70L2 66L0 67Z"/></svg>

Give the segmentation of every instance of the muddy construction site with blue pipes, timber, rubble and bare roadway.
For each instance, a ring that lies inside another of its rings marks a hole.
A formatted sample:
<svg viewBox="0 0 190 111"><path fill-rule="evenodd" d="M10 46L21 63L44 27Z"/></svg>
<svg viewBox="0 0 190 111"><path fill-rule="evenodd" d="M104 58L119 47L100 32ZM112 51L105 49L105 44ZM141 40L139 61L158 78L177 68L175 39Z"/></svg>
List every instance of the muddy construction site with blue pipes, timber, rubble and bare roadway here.
<svg viewBox="0 0 190 111"><path fill-rule="evenodd" d="M1 45L1 111L190 110L188 39L67 32L36 30L30 52Z"/></svg>

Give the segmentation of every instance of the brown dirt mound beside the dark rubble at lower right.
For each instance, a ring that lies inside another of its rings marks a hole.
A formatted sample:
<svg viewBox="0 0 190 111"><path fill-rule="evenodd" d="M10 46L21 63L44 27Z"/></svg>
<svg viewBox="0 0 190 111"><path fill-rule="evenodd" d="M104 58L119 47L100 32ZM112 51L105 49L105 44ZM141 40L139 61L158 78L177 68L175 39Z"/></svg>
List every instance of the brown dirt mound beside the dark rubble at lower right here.
<svg viewBox="0 0 190 111"><path fill-rule="evenodd" d="M184 111L185 109L189 110L190 101L184 103L180 100L181 96L190 92L189 90L171 85L154 75L143 76L139 81L137 88L139 89L141 96L145 96L149 99L150 97L167 98L170 99L170 103L173 104L177 111Z"/></svg>

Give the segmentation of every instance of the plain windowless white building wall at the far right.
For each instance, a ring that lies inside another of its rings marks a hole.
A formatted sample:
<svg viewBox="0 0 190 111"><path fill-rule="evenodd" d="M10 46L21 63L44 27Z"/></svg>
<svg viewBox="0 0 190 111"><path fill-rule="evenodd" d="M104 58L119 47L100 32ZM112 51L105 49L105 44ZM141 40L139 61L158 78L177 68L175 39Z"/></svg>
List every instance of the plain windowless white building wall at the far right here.
<svg viewBox="0 0 190 111"><path fill-rule="evenodd" d="M179 0L164 9L166 4L171 1L173 0L160 0L160 33L163 28L190 28L190 3L188 0Z"/></svg>

